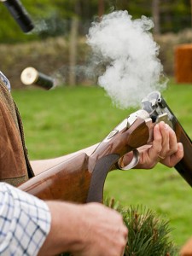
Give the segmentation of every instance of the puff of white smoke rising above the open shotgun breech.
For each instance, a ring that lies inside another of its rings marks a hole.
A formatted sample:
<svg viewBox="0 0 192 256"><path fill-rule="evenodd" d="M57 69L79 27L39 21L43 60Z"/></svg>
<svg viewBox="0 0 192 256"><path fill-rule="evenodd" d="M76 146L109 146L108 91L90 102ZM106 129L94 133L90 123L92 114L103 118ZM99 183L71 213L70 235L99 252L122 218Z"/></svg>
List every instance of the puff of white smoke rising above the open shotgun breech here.
<svg viewBox="0 0 192 256"><path fill-rule="evenodd" d="M90 27L88 44L108 61L98 84L119 108L137 107L149 92L166 88L159 46L149 32L153 26L145 16L131 20L127 11L115 11Z"/></svg>

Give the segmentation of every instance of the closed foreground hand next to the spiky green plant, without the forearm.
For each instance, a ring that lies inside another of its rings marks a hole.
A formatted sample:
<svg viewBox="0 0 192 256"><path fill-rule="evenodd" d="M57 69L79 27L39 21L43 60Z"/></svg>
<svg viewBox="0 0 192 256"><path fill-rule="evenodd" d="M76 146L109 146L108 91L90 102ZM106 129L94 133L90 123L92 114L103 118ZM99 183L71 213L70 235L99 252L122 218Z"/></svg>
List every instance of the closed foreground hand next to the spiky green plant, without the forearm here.
<svg viewBox="0 0 192 256"><path fill-rule="evenodd" d="M128 230L119 212L98 203L90 203L84 206L82 213L84 214L79 218L84 223L81 234L84 239L84 248L74 255L124 255Z"/></svg>

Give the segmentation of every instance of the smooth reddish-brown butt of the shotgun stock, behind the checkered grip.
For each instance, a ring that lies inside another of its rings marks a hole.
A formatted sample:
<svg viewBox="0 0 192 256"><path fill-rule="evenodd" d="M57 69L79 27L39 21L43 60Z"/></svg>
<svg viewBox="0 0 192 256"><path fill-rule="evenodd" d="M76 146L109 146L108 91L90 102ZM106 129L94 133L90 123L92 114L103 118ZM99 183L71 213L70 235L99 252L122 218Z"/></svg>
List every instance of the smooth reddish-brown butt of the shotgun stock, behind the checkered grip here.
<svg viewBox="0 0 192 256"><path fill-rule="evenodd" d="M88 156L78 154L22 183L19 189L43 200L85 202L90 187Z"/></svg>

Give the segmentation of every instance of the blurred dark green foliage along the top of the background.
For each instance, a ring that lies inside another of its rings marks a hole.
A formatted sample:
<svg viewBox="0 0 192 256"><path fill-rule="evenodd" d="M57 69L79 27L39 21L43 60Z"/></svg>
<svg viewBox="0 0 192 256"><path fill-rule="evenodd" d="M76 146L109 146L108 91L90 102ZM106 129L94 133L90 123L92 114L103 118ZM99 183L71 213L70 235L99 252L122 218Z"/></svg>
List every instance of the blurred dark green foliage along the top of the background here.
<svg viewBox="0 0 192 256"><path fill-rule="evenodd" d="M22 1L21 1L22 2ZM113 10L126 9L133 18L142 15L152 16L152 2L147 0L103 0L105 13ZM27 0L23 2L36 28L26 37L20 27L3 6L0 8L1 29L0 42L15 43L58 35L67 36L70 31L70 20L73 15L79 17L79 32L87 32L90 22L98 15L98 1L84 0ZM160 1L161 32L178 32L191 26L190 3L187 0Z"/></svg>

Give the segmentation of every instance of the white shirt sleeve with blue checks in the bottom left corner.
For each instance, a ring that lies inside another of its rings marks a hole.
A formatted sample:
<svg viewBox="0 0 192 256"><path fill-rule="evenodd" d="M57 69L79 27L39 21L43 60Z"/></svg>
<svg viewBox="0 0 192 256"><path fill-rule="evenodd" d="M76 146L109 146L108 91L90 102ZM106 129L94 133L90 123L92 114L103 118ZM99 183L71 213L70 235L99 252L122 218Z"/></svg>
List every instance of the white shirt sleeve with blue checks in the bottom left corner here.
<svg viewBox="0 0 192 256"><path fill-rule="evenodd" d="M44 201L0 183L0 255L37 255L50 221Z"/></svg>

